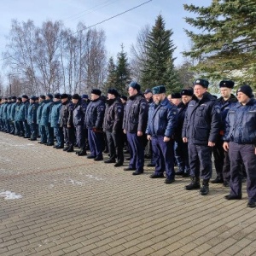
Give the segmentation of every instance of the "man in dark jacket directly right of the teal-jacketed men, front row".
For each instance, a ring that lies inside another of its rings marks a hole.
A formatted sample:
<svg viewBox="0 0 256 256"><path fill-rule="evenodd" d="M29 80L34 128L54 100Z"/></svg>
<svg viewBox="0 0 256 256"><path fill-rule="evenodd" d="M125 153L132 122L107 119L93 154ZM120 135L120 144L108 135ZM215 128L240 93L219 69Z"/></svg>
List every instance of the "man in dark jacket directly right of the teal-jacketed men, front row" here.
<svg viewBox="0 0 256 256"><path fill-rule="evenodd" d="M60 126L63 129L64 141L66 147L63 151L73 152L73 145L75 143L74 127L73 127L73 102L69 100L69 96L66 93L61 94L61 116Z"/></svg>

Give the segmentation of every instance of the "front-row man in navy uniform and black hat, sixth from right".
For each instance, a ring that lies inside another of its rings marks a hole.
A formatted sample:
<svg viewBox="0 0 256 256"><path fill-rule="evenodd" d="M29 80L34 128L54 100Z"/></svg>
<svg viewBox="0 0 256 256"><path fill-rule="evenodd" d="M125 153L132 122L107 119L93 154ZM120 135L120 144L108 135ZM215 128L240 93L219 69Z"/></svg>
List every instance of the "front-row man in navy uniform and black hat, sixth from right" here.
<svg viewBox="0 0 256 256"><path fill-rule="evenodd" d="M105 113L105 103L101 98L102 91L93 89L90 93L90 103L85 113L85 125L88 129L88 141L90 145L89 159L96 161L103 160L103 119Z"/></svg>

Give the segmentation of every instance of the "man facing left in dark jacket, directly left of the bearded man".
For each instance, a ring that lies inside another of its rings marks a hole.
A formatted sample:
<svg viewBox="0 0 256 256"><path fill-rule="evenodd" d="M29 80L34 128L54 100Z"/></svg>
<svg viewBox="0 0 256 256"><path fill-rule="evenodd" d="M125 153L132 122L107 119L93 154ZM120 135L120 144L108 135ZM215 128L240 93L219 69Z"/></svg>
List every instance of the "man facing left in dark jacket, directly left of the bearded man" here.
<svg viewBox="0 0 256 256"><path fill-rule="evenodd" d="M129 167L124 170L135 170L132 174L139 175L144 171L143 135L148 121L148 103L137 82L129 84L128 93L130 97L125 107L123 129L130 145L131 160Z"/></svg>

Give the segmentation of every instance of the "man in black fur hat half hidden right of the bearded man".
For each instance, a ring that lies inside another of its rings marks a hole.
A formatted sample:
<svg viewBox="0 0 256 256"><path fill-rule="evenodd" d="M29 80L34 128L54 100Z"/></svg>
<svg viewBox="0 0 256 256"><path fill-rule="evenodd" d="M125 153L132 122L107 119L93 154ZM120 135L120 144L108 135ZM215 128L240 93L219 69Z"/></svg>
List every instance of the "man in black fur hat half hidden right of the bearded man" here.
<svg viewBox="0 0 256 256"><path fill-rule="evenodd" d="M175 158L177 160L178 172L176 175L182 175L183 177L189 177L189 151L188 143L183 142L182 131L185 114L193 96L193 90L183 89L180 93L181 101L177 105L177 129L175 131Z"/></svg>

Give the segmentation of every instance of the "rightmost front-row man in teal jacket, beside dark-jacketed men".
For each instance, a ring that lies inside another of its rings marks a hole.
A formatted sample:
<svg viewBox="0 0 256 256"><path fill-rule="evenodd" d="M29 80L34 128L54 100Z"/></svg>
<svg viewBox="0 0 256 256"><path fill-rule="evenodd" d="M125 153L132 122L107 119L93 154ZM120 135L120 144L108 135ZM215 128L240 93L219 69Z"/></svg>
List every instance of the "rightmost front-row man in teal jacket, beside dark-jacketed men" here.
<svg viewBox="0 0 256 256"><path fill-rule="evenodd" d="M49 113L49 123L50 127L52 127L54 130L54 135L56 138L54 148L56 149L64 148L64 135L63 130L60 127L61 106L61 94L55 93L53 104Z"/></svg>

